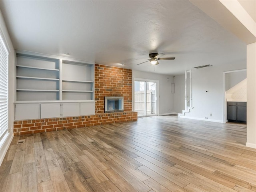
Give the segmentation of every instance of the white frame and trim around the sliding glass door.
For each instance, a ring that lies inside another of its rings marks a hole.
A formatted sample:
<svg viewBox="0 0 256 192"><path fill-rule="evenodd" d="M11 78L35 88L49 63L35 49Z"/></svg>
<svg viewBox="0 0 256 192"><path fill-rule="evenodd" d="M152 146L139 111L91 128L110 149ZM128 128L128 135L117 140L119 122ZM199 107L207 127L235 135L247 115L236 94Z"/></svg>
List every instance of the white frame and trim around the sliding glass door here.
<svg viewBox="0 0 256 192"><path fill-rule="evenodd" d="M153 82L156 83L156 114L154 115L147 115L145 114L145 116L140 116L140 117L150 117L150 116L158 116L159 115L159 101L158 101L158 93L159 93L159 80L154 80L154 79L144 79L144 78L133 78L132 81L132 110L134 111L134 105L135 105L135 100L134 100L134 82L135 81L144 81L144 82Z"/></svg>

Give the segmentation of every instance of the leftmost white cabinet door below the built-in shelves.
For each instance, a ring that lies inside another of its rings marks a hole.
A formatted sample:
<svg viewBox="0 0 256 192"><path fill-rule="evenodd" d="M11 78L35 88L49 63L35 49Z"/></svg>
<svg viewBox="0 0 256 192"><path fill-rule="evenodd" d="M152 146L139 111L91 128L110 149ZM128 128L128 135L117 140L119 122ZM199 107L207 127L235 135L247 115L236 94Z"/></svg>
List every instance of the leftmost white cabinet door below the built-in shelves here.
<svg viewBox="0 0 256 192"><path fill-rule="evenodd" d="M39 104L15 104L15 120L39 119Z"/></svg>

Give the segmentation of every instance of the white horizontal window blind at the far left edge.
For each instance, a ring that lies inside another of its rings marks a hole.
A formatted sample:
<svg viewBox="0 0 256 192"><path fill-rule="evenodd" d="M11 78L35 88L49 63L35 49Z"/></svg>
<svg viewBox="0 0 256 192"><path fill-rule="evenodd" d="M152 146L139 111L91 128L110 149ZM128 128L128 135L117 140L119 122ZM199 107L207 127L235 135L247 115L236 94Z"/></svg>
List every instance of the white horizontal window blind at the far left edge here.
<svg viewBox="0 0 256 192"><path fill-rule="evenodd" d="M8 132L8 51L0 34L0 140Z"/></svg>

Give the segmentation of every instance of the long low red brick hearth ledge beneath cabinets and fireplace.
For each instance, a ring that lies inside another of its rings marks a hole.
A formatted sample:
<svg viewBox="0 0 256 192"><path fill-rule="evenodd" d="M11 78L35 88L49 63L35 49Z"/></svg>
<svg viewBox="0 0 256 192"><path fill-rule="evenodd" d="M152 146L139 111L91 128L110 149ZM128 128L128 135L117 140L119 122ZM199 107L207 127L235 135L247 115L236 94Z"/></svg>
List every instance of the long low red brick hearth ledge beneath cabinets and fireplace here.
<svg viewBox="0 0 256 192"><path fill-rule="evenodd" d="M137 112L102 113L90 116L14 121L14 136L137 121Z"/></svg>

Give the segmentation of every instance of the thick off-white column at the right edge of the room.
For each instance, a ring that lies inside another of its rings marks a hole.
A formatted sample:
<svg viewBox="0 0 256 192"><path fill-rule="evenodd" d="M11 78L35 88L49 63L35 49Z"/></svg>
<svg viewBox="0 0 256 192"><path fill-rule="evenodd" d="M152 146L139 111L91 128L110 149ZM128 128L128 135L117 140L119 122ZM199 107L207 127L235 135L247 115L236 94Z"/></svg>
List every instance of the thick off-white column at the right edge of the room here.
<svg viewBox="0 0 256 192"><path fill-rule="evenodd" d="M256 148L256 42L247 45L247 147Z"/></svg>

